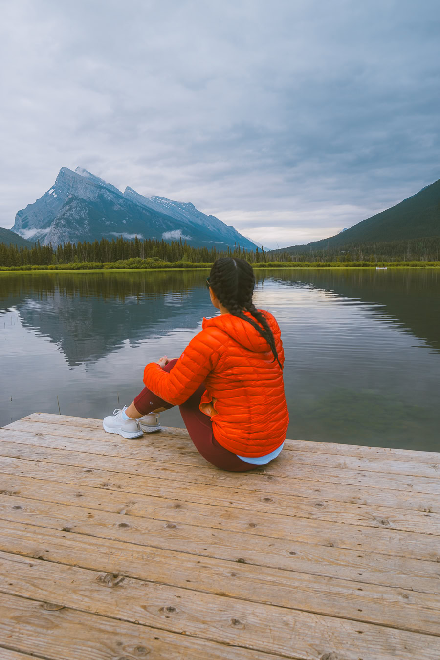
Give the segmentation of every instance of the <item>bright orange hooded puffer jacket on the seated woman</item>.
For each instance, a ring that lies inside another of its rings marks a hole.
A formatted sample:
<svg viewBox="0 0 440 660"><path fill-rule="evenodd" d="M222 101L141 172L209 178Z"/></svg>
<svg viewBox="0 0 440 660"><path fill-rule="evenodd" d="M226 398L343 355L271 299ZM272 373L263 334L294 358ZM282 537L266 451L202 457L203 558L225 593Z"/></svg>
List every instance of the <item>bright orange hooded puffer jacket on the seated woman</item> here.
<svg viewBox="0 0 440 660"><path fill-rule="evenodd" d="M260 311L284 364L278 323L272 314ZM289 416L282 370L267 341L250 323L232 314L203 319L202 327L170 373L156 362L146 365L146 387L180 405L204 382L200 409L210 415L220 445L247 457L274 451L286 438Z"/></svg>

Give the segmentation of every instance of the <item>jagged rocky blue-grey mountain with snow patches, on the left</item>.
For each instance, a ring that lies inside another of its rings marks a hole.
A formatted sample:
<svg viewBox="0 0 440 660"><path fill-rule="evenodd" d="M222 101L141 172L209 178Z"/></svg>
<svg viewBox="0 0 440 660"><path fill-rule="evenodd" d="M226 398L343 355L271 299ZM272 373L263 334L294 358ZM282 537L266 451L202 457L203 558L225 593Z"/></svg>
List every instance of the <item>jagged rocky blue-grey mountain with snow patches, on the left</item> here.
<svg viewBox="0 0 440 660"><path fill-rule="evenodd" d="M127 187L121 193L84 168L61 168L57 180L34 204L18 211L13 230L24 238L56 246L64 242L111 238L182 238L193 246L253 249L233 227L166 197L143 197Z"/></svg>

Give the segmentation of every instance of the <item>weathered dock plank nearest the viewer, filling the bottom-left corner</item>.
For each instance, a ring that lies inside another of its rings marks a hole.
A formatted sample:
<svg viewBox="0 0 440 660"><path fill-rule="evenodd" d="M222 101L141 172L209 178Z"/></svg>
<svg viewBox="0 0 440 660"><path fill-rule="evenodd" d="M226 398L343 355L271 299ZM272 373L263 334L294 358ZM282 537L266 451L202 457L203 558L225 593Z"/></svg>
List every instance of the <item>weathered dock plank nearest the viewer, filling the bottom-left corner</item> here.
<svg viewBox="0 0 440 660"><path fill-rule="evenodd" d="M215 660L275 660L277 657L272 653L190 638L90 612L66 607L57 610L49 603L4 593L0 594L0 635L1 638L7 636L10 645L16 649L40 657L49 651L49 657L57 660L129 660L150 653L155 660L206 660L207 657Z"/></svg>

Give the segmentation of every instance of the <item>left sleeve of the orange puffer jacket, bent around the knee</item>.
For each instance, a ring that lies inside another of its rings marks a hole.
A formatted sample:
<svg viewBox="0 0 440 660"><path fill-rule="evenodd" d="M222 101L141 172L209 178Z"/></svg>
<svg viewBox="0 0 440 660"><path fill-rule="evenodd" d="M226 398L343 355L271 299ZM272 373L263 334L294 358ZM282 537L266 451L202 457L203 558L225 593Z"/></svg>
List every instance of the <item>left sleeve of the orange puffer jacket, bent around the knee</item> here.
<svg viewBox="0 0 440 660"><path fill-rule="evenodd" d="M146 387L168 403L180 405L189 399L214 369L220 358L222 344L212 332L201 331L191 339L169 373L156 362L146 365Z"/></svg>

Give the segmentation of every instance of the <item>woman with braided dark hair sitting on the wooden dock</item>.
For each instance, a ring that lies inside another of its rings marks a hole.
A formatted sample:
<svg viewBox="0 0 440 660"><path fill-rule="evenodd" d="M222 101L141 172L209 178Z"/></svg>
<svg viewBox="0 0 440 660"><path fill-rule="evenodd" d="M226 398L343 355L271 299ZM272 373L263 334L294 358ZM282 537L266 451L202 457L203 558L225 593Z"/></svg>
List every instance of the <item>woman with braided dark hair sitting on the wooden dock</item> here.
<svg viewBox="0 0 440 660"><path fill-rule="evenodd" d="M160 429L159 413L178 405L206 461L245 472L278 456L286 438L280 329L272 314L255 308L255 277L245 259L217 259L207 284L220 315L203 319L180 358L147 364L142 392L103 426L137 438Z"/></svg>

